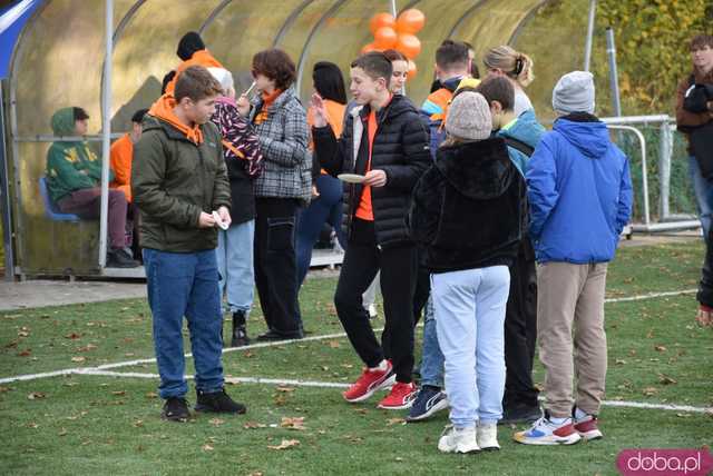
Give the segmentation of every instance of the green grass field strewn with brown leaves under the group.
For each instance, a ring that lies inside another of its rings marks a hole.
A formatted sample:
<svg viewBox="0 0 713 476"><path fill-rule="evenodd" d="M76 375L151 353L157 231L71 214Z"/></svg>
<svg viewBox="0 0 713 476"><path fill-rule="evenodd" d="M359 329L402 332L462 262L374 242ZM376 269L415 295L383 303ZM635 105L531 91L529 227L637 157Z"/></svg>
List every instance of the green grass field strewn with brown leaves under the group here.
<svg viewBox="0 0 713 476"><path fill-rule="evenodd" d="M692 289L702 258L697 241L625 248L609 268L607 297ZM226 353L226 376L353 380L361 363L349 341L319 338L342 331L334 285L334 278L310 279L302 290L312 340ZM694 325L695 307L690 294L606 305L607 400L713 406L713 331ZM0 314L0 378L153 357L144 300L28 309ZM250 333L263 329L255 310ZM153 363L110 370L157 373ZM543 381L539 366L535 377ZM616 455L625 448L713 445L711 414L605 406L599 442L527 447L511 442L514 428L502 427L501 452L452 456L436 448L446 413L404 425L404 411L377 409L377 398L348 405L340 388L241 383L227 389L248 406L247 415L169 424L159 417L156 385L155 378L126 375L0 384L0 473L608 475L616 474ZM276 449L281 445L289 447Z"/></svg>

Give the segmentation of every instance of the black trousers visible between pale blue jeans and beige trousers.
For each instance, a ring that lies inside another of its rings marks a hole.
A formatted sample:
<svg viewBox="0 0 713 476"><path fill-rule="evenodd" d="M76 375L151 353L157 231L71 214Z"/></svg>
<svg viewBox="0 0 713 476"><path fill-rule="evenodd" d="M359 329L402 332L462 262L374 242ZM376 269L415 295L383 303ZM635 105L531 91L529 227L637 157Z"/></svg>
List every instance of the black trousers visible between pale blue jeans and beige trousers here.
<svg viewBox="0 0 713 476"><path fill-rule="evenodd" d="M510 267L510 295L505 314L505 408L538 405L539 391L533 384L536 338L537 274L535 251L526 237Z"/></svg>

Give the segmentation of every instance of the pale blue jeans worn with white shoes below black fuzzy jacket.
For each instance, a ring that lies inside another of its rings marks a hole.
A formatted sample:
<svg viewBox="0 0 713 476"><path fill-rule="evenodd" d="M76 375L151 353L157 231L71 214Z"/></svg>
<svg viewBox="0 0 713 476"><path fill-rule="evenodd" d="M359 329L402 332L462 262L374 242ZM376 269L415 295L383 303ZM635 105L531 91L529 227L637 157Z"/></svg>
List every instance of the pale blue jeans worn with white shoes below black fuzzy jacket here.
<svg viewBox="0 0 713 476"><path fill-rule="evenodd" d="M502 418L509 290L507 266L431 275L438 343L446 356L450 420L458 428Z"/></svg>

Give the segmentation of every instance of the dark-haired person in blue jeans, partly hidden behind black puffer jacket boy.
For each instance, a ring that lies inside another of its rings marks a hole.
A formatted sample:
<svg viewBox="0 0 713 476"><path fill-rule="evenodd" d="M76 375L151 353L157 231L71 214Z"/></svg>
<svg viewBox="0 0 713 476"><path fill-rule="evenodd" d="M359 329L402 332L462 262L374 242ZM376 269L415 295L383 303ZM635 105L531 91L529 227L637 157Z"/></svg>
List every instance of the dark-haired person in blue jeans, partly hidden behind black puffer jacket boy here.
<svg viewBox="0 0 713 476"><path fill-rule="evenodd" d="M336 137L342 135L342 121L346 108L346 91L342 71L336 65L329 61L320 61L312 70L314 91L324 101L328 121ZM307 125L314 125L314 109L307 109ZM310 149L314 145L310 142ZM300 212L297 222L297 284L302 286L304 277L310 269L312 248L320 237L322 227L329 222L336 232L336 239L342 248L346 247L342 234L342 182L321 169L319 161L314 160L313 181L315 196L310 206Z"/></svg>

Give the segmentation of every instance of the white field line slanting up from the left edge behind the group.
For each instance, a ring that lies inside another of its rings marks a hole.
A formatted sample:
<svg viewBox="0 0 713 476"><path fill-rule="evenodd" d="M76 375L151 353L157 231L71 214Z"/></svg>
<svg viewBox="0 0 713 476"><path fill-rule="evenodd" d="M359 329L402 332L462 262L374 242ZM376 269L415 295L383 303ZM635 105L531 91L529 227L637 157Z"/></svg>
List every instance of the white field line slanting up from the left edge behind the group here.
<svg viewBox="0 0 713 476"><path fill-rule="evenodd" d="M631 297L623 297L623 298L611 298L611 299L605 299L605 303L626 303L626 301L633 301L633 300L655 299L655 298L660 298L660 297L687 295L687 294L693 294L693 292L696 292L696 289L685 289L685 290L681 290L681 291L667 291L667 292L652 292L652 294L639 295L639 296L631 296ZM420 324L420 325L422 325L422 324ZM374 329L374 333L379 333L379 331L382 331L382 330L383 330L383 328ZM252 344L250 346L244 346L244 347L225 348L225 349L223 349L223 354L234 353L234 351L244 351L244 350L251 350L251 349L258 349L258 348L264 348L264 347L284 346L284 345L290 345L290 344L310 343L310 341L315 341L315 340L338 339L338 338L343 338L343 337L346 337L346 334L338 333L338 334L328 334L328 335L322 335L322 336L311 336L311 337L305 337L303 339L281 340L281 341L276 341L276 343L272 343L271 341L271 343ZM191 358L191 357L193 357L193 354L186 354L185 357L186 358ZM100 366L97 366L97 367L75 367L75 368L66 368L66 369L61 369L61 370L45 371L45 373L40 373L40 374L16 375L16 376L12 376L12 377L0 378L0 384L10 384L10 383L13 383L13 381L36 380L38 378L50 378L50 377L58 377L58 376L62 376L62 375L86 374L86 373L92 371L92 370L108 370L108 369L113 369L113 368L134 367L134 366L143 365L143 364L154 364L155 361L156 361L156 358L145 358L145 359L137 359L137 360L118 361L118 363L115 363L115 364L104 364L104 365L100 365Z"/></svg>

